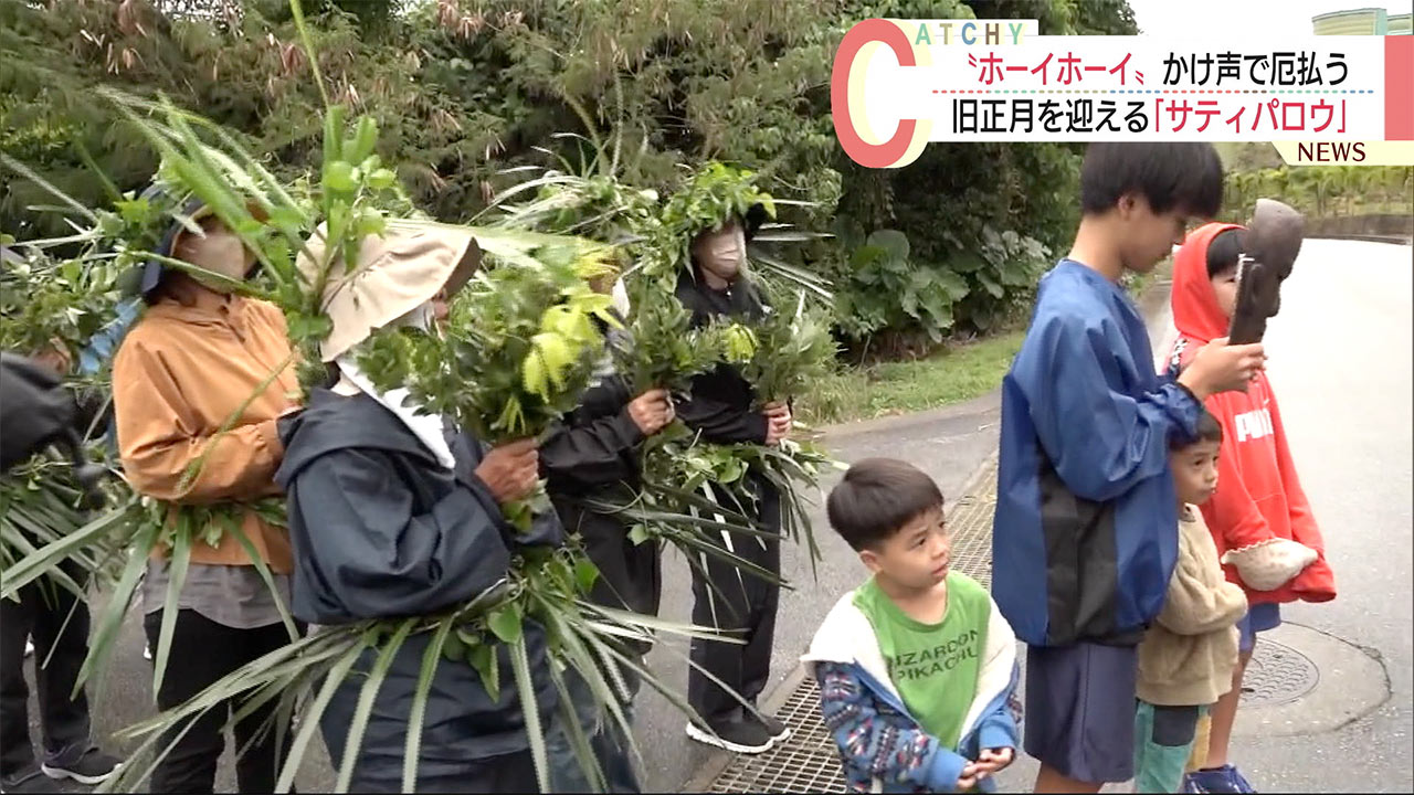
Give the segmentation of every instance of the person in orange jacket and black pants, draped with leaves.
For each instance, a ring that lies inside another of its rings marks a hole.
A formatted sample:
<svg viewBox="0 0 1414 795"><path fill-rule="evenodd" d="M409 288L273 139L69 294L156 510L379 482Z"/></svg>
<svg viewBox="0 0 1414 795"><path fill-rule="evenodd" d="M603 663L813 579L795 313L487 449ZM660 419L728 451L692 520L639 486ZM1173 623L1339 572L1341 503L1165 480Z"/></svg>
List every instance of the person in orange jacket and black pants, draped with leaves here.
<svg viewBox="0 0 1414 795"><path fill-rule="evenodd" d="M276 417L297 388L284 314L235 294L255 255L209 208L191 202L182 215L194 226L174 222L154 252L161 259L143 267L147 311L113 362L124 474L170 508L143 593L158 666L181 649L158 676L164 710L291 641L277 601L288 601L288 533L255 506L280 494ZM211 792L226 712L238 707L197 719L156 767L153 791ZM271 717L273 706L235 727L242 792L274 789L280 750L276 731L262 731Z"/></svg>

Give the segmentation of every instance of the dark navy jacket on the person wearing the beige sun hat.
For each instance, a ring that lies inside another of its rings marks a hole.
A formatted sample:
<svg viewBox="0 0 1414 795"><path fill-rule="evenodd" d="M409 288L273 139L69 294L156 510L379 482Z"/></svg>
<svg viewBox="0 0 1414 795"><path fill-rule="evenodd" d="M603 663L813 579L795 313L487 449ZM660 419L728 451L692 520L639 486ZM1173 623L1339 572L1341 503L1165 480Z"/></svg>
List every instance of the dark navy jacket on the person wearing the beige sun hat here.
<svg viewBox="0 0 1414 795"><path fill-rule="evenodd" d="M300 620L348 624L430 614L471 600L506 576L512 529L474 474L482 448L469 434L447 434L457 460L448 471L372 398L317 389L308 407L280 422L280 439L286 454L276 481L288 497L291 601ZM557 529L559 522L549 521ZM549 724L557 699L544 631L527 621L525 637L536 703ZM427 634L409 638L393 661L375 702L355 789L396 789L402 779L407 716L428 641ZM437 666L419 781L454 779L471 761L529 747L508 649L498 655L496 699L465 662L443 659ZM361 668L372 656L366 652ZM321 721L335 754L344 747L359 686L358 678L349 679Z"/></svg>

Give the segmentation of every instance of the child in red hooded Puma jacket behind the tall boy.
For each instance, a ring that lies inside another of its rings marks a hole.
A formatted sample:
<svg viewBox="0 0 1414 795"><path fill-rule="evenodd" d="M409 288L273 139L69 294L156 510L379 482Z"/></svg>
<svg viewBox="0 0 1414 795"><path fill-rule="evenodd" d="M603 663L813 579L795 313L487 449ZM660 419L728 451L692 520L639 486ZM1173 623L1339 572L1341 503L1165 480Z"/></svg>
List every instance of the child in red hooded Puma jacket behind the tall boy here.
<svg viewBox="0 0 1414 795"><path fill-rule="evenodd" d="M1195 229L1179 249L1174 262L1178 340L1169 356L1171 375L1186 372L1195 347L1226 334L1237 303L1237 260L1244 235L1233 224L1209 224ZM1240 656L1233 686L1213 707L1209 768L1195 772L1191 784L1199 792L1253 792L1229 764L1227 748L1256 632L1281 624L1280 603L1335 598L1335 574L1297 478L1267 375L1258 372L1246 392L1208 398L1206 406L1223 426L1223 450L1222 485L1202 506L1203 519L1227 564L1227 579L1247 591L1251 608L1239 622Z"/></svg>

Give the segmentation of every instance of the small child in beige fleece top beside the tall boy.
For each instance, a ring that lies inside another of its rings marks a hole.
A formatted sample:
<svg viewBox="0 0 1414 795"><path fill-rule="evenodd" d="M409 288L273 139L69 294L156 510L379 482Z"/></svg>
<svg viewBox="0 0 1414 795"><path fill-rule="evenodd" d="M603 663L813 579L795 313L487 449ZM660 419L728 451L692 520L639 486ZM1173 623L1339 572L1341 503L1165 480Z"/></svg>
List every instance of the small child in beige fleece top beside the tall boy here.
<svg viewBox="0 0 1414 795"><path fill-rule="evenodd" d="M1247 597L1223 579L1217 547L1193 508L1208 502L1219 484L1222 441L1223 427L1208 412L1198 417L1196 439L1171 437L1178 564L1164 608L1140 642L1135 792L1182 792L1199 719L1232 687L1237 666L1237 620L1247 613Z"/></svg>

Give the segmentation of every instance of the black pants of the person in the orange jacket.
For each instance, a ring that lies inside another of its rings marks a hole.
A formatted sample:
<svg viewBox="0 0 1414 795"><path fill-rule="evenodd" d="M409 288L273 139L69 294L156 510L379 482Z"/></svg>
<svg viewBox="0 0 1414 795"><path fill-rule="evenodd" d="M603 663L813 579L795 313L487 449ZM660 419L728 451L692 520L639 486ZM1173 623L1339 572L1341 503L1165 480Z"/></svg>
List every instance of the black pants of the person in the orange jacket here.
<svg viewBox="0 0 1414 795"><path fill-rule="evenodd" d="M147 642L157 649L161 632L163 611L148 613L143 620ZM303 632L304 628L300 627ZM173 628L171 655L167 659L167 673L157 693L157 706L173 709L205 690L222 676L242 665L290 642L284 624L271 624L255 629L236 629L206 618L195 610L181 610ZM266 703L235 726L236 748L246 748L252 737L266 730L279 699ZM222 727L230 719L239 703L228 702L208 710L153 771L153 792L214 792L216 787L216 762L226 748ZM158 745L167 748L173 738L187 727L182 723L168 731ZM274 792L290 748L290 727L284 727L284 747L276 745L276 730L271 724L260 741L250 744L245 754L236 758L236 785L240 792Z"/></svg>

